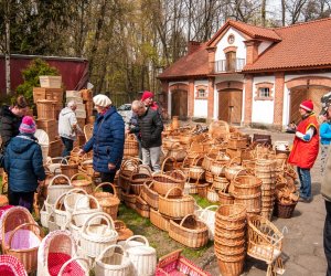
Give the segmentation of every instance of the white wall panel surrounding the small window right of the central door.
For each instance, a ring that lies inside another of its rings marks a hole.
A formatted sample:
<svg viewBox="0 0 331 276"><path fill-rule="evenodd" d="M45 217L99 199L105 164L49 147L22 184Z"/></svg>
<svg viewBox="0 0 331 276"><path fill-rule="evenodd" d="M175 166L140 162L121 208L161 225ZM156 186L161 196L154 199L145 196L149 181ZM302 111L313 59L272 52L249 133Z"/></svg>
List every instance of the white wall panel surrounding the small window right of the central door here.
<svg viewBox="0 0 331 276"><path fill-rule="evenodd" d="M256 100L256 87L258 83L273 83L273 100ZM273 124L275 105L275 76L259 76L253 79L253 103L252 103L252 123Z"/></svg>

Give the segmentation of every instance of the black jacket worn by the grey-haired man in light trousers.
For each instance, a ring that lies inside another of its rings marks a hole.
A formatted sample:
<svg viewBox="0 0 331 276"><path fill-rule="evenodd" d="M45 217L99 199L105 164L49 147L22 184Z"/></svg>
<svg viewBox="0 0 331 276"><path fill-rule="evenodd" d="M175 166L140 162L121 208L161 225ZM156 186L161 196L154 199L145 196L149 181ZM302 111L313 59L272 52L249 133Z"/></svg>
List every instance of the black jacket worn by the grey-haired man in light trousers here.
<svg viewBox="0 0 331 276"><path fill-rule="evenodd" d="M147 108L142 116L138 116L142 148L154 148L162 145L163 123L158 112Z"/></svg>

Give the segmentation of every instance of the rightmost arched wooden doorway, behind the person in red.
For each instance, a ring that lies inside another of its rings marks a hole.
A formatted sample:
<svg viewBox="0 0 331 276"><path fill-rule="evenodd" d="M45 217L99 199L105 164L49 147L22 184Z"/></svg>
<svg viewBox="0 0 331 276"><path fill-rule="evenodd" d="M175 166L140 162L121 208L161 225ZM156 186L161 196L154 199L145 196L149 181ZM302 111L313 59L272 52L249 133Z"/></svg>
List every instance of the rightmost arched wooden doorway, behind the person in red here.
<svg viewBox="0 0 331 276"><path fill-rule="evenodd" d="M289 123L296 124L301 120L299 106L306 99L313 102L313 110L321 110L321 97L331 91L331 78L329 77L298 77L287 82L290 89Z"/></svg>

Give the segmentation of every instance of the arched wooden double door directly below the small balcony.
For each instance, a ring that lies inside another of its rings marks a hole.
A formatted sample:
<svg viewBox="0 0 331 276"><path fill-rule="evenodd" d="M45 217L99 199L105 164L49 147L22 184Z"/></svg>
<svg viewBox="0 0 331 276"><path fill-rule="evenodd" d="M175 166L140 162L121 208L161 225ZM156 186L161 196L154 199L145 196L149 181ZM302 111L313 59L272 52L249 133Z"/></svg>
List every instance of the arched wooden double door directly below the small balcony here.
<svg viewBox="0 0 331 276"><path fill-rule="evenodd" d="M229 124L242 123L243 83L222 82L216 84L218 91L218 119Z"/></svg>

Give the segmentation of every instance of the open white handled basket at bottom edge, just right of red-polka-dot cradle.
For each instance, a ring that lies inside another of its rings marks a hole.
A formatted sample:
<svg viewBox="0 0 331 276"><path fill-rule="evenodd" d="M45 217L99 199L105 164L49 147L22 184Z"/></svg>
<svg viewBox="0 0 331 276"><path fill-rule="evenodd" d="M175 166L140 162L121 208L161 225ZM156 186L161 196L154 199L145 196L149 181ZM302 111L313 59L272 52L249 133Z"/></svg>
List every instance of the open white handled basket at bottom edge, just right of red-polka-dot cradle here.
<svg viewBox="0 0 331 276"><path fill-rule="evenodd" d="M117 250L121 252L118 253ZM105 256L108 251L114 251L111 256ZM118 244L109 245L95 261L95 274L103 276L132 275L132 263L125 248Z"/></svg>

